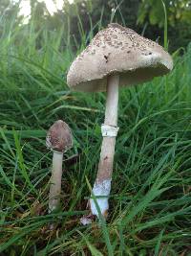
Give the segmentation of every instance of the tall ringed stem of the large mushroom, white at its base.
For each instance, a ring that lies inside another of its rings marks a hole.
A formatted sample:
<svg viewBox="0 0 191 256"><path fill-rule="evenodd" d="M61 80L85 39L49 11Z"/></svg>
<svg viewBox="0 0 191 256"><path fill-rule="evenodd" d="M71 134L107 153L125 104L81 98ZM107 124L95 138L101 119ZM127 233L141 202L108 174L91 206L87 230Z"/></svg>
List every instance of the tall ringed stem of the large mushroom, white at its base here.
<svg viewBox="0 0 191 256"><path fill-rule="evenodd" d="M116 136L118 130L118 83L119 76L117 74L110 75L108 77L105 121L104 125L102 125L103 141L98 164L98 172L96 175L96 182L93 188L93 193L97 197L96 201L100 208L100 212L104 217L107 217L107 211L109 208L108 196L111 190ZM98 198L99 196L102 198ZM105 198L103 198L103 196ZM98 217L96 203L93 198L90 199L90 207L92 214Z"/></svg>

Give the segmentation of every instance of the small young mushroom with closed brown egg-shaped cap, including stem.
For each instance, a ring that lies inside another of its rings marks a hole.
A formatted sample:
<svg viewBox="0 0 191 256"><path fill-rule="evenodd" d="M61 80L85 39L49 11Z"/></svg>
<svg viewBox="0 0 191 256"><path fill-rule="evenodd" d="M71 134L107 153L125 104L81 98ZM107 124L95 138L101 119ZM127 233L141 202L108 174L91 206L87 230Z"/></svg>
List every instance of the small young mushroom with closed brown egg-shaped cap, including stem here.
<svg viewBox="0 0 191 256"><path fill-rule="evenodd" d="M73 146L72 132L62 120L56 121L49 129L46 145L53 150L53 169L49 193L49 213L57 209L60 201L63 152Z"/></svg>

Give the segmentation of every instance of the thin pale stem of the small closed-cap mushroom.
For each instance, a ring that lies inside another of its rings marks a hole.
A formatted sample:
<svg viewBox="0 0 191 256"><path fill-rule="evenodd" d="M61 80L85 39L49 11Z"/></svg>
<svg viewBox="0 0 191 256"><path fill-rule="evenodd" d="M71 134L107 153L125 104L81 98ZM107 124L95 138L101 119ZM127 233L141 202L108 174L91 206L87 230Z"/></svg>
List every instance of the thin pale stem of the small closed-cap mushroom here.
<svg viewBox="0 0 191 256"><path fill-rule="evenodd" d="M53 151L53 170L49 193L49 213L57 209L60 202L63 152Z"/></svg>

